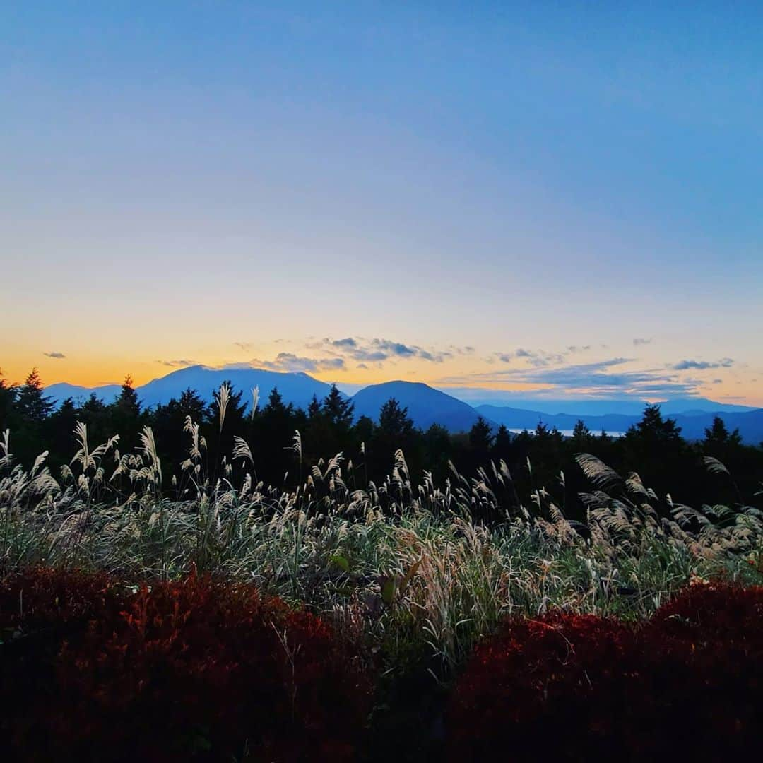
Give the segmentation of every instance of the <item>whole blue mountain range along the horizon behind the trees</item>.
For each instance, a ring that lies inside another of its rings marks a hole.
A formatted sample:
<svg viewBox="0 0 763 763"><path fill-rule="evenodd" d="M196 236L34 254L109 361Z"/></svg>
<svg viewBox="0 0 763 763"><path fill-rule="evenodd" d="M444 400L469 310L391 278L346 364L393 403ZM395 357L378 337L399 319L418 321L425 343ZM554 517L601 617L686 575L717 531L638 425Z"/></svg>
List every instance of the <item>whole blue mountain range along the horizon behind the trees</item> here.
<svg viewBox="0 0 763 763"><path fill-rule="evenodd" d="M243 391L242 401L247 405L251 403L250 390L253 387L259 387L263 404L272 389L277 387L286 403L302 408L310 404L313 395L322 400L330 390L327 382L319 381L305 373L250 368L212 369L204 365L192 365L155 378L137 387L136 391L141 403L149 407L166 404L170 398L179 398L187 388L194 389L205 401L211 402L212 393L217 391L226 379L230 380L237 391ZM45 393L57 404L66 398L82 402L91 393L109 403L119 391L120 385L86 388L61 382L47 387ZM539 421L542 421L549 427L571 430L580 419L593 432L600 432L602 429L607 432L624 432L641 420L645 405L642 401L626 401L629 409L633 411L628 414L611 411L601 413L601 407L607 405L608 401L568 401L568 404L577 410L555 413L551 413L549 407L562 405L562 401L546 401L542 406L543 410L494 404L472 406L452 394L420 381L385 381L364 387L353 395L351 399L355 406L356 418L365 415L378 421L379 410L389 398L395 398L402 406L407 407L408 415L417 427L428 429L433 423L437 423L451 432L468 431L480 416L494 425L504 424L510 429L534 430ZM713 422L713 416L718 415L729 430L739 427L745 443L758 444L763 441L763 409L736 405L724 407L723 404L705 398L666 401L660 404L660 407L664 415L676 420L687 439L701 439L705 428L710 427ZM587 410L595 413L585 412Z"/></svg>

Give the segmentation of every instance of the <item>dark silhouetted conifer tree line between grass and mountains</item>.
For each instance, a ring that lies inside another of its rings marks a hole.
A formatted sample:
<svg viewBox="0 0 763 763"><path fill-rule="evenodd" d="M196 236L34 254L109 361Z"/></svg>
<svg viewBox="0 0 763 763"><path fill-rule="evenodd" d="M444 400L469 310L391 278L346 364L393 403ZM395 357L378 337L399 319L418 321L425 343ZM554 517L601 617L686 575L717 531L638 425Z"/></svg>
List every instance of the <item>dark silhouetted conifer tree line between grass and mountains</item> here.
<svg viewBox="0 0 763 763"><path fill-rule="evenodd" d="M323 400L314 397L306 410L286 403L277 388L256 410L242 398L243 391L233 390L230 399L221 401L215 391L208 404L198 391L186 389L179 398L146 408L127 376L111 403L92 394L82 403L69 398L56 407L33 369L18 386L8 385L0 375L0 433L10 430L15 462L28 468L47 450L47 463L56 474L72 456L72 433L78 422L86 424L93 445L118 434L121 452L137 449L141 430L150 427L168 486L188 456L186 417L200 425L206 440L208 475L221 475L224 464L230 465L234 437L240 437L252 452L256 479L278 488L294 488L320 459L338 452L343 453L345 472L351 470L357 487L384 481L398 449L404 452L414 483L425 471L442 483L452 475L451 462L462 475L478 478L480 468L489 470L503 461L521 500L546 488L559 497L570 518L584 517L578 494L591 487L575 464L575 454L581 452L597 456L623 475L637 472L666 507L668 494L672 501L699 506L750 503L761 489L763 448L744 445L739 432L729 432L720 417L705 430L703 440L688 443L681 437L681 427L663 417L658 405L647 405L639 423L624 436L612 437L591 432L582 421L571 436L562 436L542 422L533 432L510 433L483 418L465 433L449 433L438 424L421 430L394 398L381 406L378 420L356 417L352 401L336 386ZM299 433L299 455L295 433ZM703 456L719 459L729 475L710 475Z"/></svg>

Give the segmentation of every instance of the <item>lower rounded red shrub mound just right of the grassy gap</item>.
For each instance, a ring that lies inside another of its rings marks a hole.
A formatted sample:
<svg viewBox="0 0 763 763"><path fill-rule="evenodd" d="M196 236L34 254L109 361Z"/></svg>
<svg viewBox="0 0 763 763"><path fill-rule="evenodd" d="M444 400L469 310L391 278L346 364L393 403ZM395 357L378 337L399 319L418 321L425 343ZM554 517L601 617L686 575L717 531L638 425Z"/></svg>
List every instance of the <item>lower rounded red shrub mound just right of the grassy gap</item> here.
<svg viewBox="0 0 763 763"><path fill-rule="evenodd" d="M512 620L478 647L447 721L453 761L583 760L619 754L633 633L613 620Z"/></svg>

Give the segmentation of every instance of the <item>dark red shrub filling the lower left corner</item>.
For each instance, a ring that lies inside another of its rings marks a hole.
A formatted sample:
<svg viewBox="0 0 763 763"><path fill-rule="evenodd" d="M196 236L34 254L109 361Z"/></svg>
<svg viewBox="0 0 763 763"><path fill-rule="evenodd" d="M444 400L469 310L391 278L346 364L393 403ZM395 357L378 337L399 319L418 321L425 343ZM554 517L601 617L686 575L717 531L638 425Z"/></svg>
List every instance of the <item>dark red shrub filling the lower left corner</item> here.
<svg viewBox="0 0 763 763"><path fill-rule="evenodd" d="M342 761L368 710L327 624L251 586L32 571L0 629L3 760Z"/></svg>

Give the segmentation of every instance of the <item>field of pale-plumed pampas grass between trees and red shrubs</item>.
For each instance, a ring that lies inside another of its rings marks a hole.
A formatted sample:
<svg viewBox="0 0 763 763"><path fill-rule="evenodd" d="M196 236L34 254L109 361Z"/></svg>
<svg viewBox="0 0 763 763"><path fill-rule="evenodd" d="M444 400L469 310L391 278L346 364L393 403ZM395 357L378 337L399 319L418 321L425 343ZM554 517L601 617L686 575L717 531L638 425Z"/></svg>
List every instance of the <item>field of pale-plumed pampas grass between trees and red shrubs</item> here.
<svg viewBox="0 0 763 763"><path fill-rule="evenodd" d="M637 475L623 478L593 456L578 457L591 483L588 520L572 523L545 489L507 514L501 495L513 481L503 464L472 478L454 467L443 485L426 474L414 485L398 452L383 484L359 489L346 484L340 454L283 492L253 481L240 439L211 481L191 420L186 433L182 477L166 485L148 429L137 452L121 454L118 438L93 446L79 425L79 449L55 476L44 453L28 472L14 465L6 432L3 576L43 565L102 571L134 587L189 574L253 584L320 617L358 655L375 676L369 726L381 736L436 724L475 646L507 618L562 612L639 623L689 584L763 583L757 508L674 505L660 516ZM297 433L296 459L300 447ZM238 484L232 463L242 467ZM488 526L475 514L498 520ZM430 731L422 739L438 737Z"/></svg>

